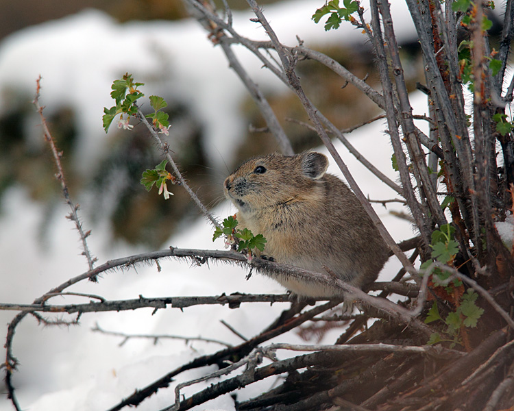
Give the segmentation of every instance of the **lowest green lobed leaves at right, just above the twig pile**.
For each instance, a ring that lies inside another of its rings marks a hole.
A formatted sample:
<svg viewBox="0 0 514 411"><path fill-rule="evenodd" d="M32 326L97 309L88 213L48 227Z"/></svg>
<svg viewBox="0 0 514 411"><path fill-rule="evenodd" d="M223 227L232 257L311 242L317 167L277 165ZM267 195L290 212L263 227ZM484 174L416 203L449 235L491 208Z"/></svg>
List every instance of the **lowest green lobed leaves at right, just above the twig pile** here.
<svg viewBox="0 0 514 411"><path fill-rule="evenodd" d="M451 342L450 348L456 344L461 344L461 327L476 327L478 319L484 314L484 309L476 305L478 294L472 288L468 288L467 292L461 298L461 305L454 312L450 312L445 319L439 314L437 303L434 301L432 308L428 311L425 323L432 323L433 321L443 321L446 329L443 332L445 336L441 336L439 332L435 332L430 336L428 345L440 343L442 341Z"/></svg>

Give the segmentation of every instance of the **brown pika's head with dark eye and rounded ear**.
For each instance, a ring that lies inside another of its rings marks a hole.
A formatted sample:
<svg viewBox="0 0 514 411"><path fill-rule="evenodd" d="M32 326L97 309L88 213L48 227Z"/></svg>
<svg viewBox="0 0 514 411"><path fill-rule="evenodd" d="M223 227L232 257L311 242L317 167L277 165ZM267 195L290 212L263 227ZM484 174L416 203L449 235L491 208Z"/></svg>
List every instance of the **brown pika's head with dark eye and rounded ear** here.
<svg viewBox="0 0 514 411"><path fill-rule="evenodd" d="M225 179L225 197L241 212L254 212L308 195L328 167L326 155L269 154L241 164Z"/></svg>

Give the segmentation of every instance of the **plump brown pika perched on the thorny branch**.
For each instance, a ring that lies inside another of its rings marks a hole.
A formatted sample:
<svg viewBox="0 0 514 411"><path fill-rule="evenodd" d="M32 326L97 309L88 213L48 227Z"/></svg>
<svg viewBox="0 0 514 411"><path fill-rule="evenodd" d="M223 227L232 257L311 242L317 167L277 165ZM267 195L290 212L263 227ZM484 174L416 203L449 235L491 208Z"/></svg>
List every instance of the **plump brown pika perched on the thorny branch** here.
<svg viewBox="0 0 514 411"><path fill-rule="evenodd" d="M374 282L389 256L354 193L327 174L328 158L315 152L270 154L241 164L223 184L241 227L267 239L276 262L324 273L347 284ZM300 297L341 297L341 290L288 275L271 275Z"/></svg>

